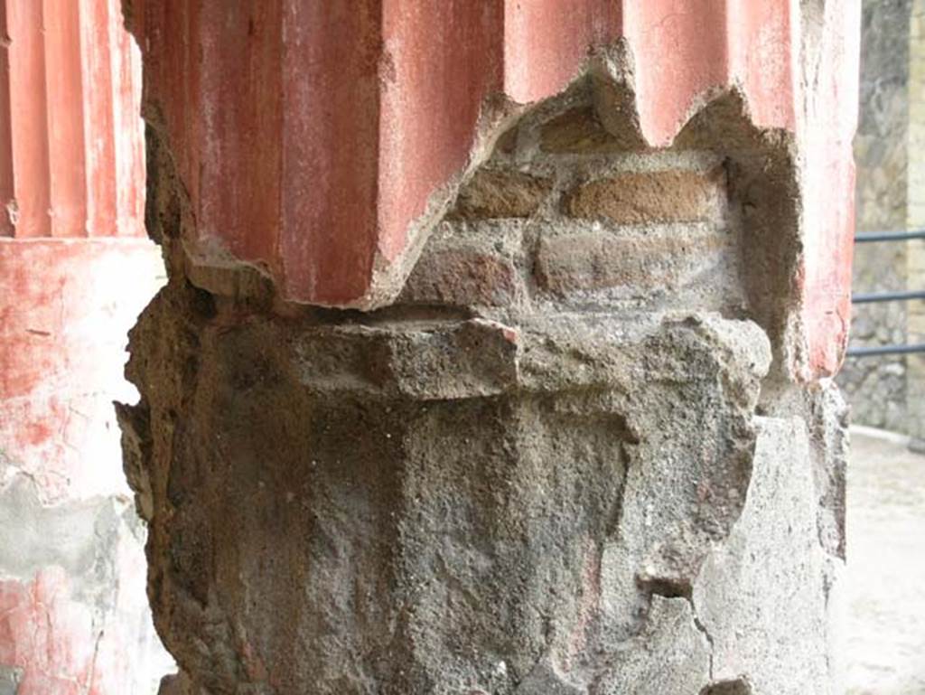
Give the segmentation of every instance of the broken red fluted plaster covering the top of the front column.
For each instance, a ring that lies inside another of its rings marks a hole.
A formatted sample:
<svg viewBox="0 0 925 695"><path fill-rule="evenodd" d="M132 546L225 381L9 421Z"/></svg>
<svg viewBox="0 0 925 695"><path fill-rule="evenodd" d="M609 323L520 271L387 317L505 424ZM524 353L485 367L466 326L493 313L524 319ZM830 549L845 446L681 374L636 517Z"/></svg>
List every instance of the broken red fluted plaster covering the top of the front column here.
<svg viewBox="0 0 925 695"><path fill-rule="evenodd" d="M525 104L559 92L594 46L628 43L641 126L653 146L671 143L698 107L733 86L757 125L802 136L814 114L848 107L849 94L836 90L820 95L824 107L806 109L798 31L811 22L789 0L364 0L349 11L317 0L230 11L221 0L139 0L133 7L146 101L179 156L201 262L231 256L265 267L287 298L310 304L368 304L380 289L376 263L388 267L408 252L428 201L466 165L487 100L503 94ZM826 8L835 23L836 13L849 23L859 13L857 0ZM847 92L857 81L856 33L833 35L828 45L829 70ZM850 166L830 134L814 137L833 148L829 165L814 160L820 167ZM831 182L841 207L852 195L848 184L845 176ZM819 316L841 311L846 258L807 260L832 267L806 268L813 279L806 325L828 330ZM839 359L837 349L823 355L821 342L840 340L810 337L820 371Z"/></svg>

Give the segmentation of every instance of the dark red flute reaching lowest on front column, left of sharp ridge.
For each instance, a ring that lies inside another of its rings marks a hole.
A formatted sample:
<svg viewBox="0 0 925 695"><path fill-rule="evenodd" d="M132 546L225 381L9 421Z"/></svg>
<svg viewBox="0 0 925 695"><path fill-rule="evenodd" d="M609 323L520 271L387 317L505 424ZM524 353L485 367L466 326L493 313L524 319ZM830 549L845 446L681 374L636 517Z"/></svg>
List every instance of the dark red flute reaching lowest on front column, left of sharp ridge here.
<svg viewBox="0 0 925 695"><path fill-rule="evenodd" d="M282 130L269 133L283 147L279 198L270 201L280 208L282 229L269 261L284 292L307 290L336 304L369 281L380 239L384 10L378 0L280 4L282 36L292 50L281 66L288 95L279 104Z"/></svg>

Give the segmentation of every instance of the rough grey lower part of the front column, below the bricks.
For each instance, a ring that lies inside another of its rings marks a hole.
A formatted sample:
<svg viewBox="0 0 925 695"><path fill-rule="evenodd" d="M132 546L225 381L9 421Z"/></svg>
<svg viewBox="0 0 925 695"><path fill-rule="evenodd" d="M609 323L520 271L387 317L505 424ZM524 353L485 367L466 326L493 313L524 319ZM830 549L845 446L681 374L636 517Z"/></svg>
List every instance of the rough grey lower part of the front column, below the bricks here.
<svg viewBox="0 0 925 695"><path fill-rule="evenodd" d="M810 434L753 415L755 324L330 318L175 280L135 329L166 692L825 691Z"/></svg>

